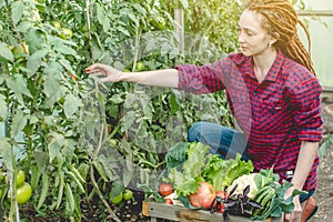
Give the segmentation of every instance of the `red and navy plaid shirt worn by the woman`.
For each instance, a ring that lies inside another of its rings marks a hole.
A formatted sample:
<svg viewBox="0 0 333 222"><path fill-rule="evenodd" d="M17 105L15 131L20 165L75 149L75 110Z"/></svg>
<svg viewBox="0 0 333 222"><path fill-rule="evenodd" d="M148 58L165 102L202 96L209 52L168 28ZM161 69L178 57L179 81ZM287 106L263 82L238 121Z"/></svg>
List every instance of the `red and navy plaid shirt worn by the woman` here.
<svg viewBox="0 0 333 222"><path fill-rule="evenodd" d="M293 172L302 141L322 139L317 79L279 52L264 81L258 82L252 57L232 53L212 64L175 67L179 89L193 93L225 90L239 125L249 134L248 157L256 171L274 165L281 180ZM316 158L304 190L316 188ZM289 179L290 180L290 179Z"/></svg>

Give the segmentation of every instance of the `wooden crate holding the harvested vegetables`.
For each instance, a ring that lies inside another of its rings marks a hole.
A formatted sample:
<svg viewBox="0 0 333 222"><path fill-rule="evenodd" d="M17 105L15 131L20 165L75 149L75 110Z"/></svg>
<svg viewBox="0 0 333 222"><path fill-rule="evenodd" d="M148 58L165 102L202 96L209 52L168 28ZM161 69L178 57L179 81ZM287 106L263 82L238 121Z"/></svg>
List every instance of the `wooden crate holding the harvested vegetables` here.
<svg viewBox="0 0 333 222"><path fill-rule="evenodd" d="M157 219L167 219L171 221L200 221L200 222L223 222L221 213L210 213L209 211L202 210L190 210L179 205L155 203L143 201L142 214L150 216L151 221L154 222ZM243 216L229 216L229 222L253 222L248 218ZM283 222L283 218L279 219L266 219L265 222Z"/></svg>

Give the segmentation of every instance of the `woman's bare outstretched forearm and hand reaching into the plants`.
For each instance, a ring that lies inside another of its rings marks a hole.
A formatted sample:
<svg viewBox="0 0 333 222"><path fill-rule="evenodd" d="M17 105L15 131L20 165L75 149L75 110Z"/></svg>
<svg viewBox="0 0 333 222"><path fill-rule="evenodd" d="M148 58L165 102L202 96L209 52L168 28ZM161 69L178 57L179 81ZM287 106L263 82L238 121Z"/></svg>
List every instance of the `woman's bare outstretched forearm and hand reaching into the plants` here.
<svg viewBox="0 0 333 222"><path fill-rule="evenodd" d="M178 88L179 71L176 69L163 69L143 72L121 72L110 65L95 63L85 69L88 74L104 75L102 82L133 82L139 84Z"/></svg>

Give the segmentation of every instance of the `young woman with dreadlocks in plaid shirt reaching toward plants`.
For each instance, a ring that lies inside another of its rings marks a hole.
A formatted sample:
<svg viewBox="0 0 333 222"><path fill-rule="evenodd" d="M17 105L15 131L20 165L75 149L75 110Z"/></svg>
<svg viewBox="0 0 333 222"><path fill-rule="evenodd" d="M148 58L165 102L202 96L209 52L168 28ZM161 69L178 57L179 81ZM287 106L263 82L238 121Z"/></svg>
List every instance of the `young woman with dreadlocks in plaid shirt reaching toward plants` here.
<svg viewBox="0 0 333 222"><path fill-rule="evenodd" d="M128 81L193 93L225 90L241 131L199 122L189 130L189 141L205 142L222 158L240 152L256 171L273 167L281 180L293 184L285 198L295 189L307 191L294 198L295 209L285 221L306 221L316 209L306 209L310 213L301 219L302 206L317 185L322 89L297 36L297 23L289 0L248 0L239 20L239 53L202 67L133 73L95 63L87 73L104 75L102 82Z"/></svg>

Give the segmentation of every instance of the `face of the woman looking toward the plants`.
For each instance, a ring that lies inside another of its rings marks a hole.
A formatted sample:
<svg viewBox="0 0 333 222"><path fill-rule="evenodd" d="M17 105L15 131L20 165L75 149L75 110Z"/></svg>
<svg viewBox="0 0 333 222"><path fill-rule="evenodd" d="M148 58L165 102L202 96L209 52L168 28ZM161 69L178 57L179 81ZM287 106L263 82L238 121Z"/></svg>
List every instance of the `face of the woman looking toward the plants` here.
<svg viewBox="0 0 333 222"><path fill-rule="evenodd" d="M263 17L253 11L245 10L239 20L239 42L245 56L260 56L270 49L272 41L268 31L262 28Z"/></svg>

